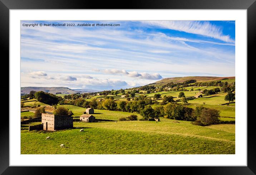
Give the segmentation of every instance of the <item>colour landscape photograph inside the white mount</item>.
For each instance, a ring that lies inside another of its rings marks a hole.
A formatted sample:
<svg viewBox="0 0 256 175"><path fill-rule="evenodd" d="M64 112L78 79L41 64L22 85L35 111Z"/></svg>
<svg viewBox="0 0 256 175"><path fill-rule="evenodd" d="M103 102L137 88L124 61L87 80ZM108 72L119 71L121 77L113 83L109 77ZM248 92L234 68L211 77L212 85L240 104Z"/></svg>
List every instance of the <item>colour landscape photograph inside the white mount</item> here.
<svg viewBox="0 0 256 175"><path fill-rule="evenodd" d="M20 154L235 155L235 49L235 20L20 20Z"/></svg>

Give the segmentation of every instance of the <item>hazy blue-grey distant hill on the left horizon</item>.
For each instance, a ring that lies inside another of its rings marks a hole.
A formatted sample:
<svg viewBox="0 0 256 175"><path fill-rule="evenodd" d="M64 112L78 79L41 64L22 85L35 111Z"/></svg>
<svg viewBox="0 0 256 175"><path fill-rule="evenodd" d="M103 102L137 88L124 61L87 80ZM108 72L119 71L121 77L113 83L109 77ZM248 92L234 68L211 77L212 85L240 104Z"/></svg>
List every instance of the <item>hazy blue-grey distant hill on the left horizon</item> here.
<svg viewBox="0 0 256 175"><path fill-rule="evenodd" d="M74 94L74 93L87 93L87 92L99 92L93 89L70 89L67 87L21 87L20 93L21 94L29 94L30 91L44 91L52 94L56 94L60 92L62 94Z"/></svg>

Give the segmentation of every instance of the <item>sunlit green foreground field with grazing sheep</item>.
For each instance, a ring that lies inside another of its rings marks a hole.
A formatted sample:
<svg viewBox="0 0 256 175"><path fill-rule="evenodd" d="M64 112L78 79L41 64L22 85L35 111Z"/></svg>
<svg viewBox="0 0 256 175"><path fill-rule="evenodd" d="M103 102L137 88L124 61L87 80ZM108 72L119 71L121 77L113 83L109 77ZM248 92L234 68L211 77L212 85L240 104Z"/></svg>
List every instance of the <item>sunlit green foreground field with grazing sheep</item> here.
<svg viewBox="0 0 256 175"><path fill-rule="evenodd" d="M28 125L21 125L21 154L235 154L235 125L231 124L201 127L161 118L157 123L74 122L74 127L84 132L29 132ZM51 139L45 140L48 136Z"/></svg>

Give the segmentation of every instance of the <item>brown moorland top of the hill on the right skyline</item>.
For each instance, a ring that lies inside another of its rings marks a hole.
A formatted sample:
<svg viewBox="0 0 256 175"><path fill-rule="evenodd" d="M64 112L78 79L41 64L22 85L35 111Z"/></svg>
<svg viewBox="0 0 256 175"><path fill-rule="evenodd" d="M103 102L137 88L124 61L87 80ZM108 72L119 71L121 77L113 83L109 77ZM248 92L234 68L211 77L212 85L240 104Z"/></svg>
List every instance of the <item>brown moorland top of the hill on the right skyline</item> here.
<svg viewBox="0 0 256 175"><path fill-rule="evenodd" d="M164 78L161 79L155 83L151 83L152 85L164 85L167 83L182 83L184 81L190 80L190 79L195 79L197 82L212 82L212 81L220 81L223 80L225 81L226 79L234 79L235 77L202 77L202 76L194 76L194 77L172 77L172 78ZM149 85L151 85L149 84Z"/></svg>

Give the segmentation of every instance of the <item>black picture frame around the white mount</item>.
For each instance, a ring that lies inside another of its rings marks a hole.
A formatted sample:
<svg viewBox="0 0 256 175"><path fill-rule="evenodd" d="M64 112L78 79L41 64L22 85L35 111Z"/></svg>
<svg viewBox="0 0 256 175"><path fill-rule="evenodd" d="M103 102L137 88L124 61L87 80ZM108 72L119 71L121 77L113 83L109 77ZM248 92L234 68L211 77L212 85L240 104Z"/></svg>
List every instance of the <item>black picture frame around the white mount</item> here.
<svg viewBox="0 0 256 175"><path fill-rule="evenodd" d="M126 3L124 3L126 2ZM256 2L255 0L130 0L130 1L88 1L88 0L0 0L0 49L2 63L9 65L9 10L11 9L247 9L247 80L253 79L252 61L254 44L256 42ZM6 70L5 74L6 74ZM5 75L4 74L4 75ZM3 77L0 89L9 92L9 77ZM247 91L253 91L255 84L247 84ZM10 93L10 92L9 92ZM9 93L4 93L3 98L8 99ZM245 94L247 96L247 94ZM6 100L5 102L6 103ZM247 101L247 109L253 109L253 103ZM10 107L9 107L10 109ZM249 112L249 110L248 110ZM249 113L248 113L249 114ZM247 166L196 166L196 167L171 167L171 171L179 173L189 171L189 174L256 174L256 127L254 115L247 115ZM11 116L9 116L11 117ZM1 118L0 127L0 173L3 174L51 174L58 168L58 174L67 174L70 167L22 167L9 166L9 118ZM170 167L168 167L170 170ZM73 167L75 171L83 167ZM158 168L157 168L158 169ZM159 171L154 167L147 167L148 172ZM115 171L113 171L115 170ZM74 170L72 170L74 172ZM87 169L88 171L88 169ZM95 167L92 169L95 171ZM98 173L112 172L112 174L133 174L134 167L124 167L117 171L116 167L97 168ZM146 172L145 172L146 173Z"/></svg>

